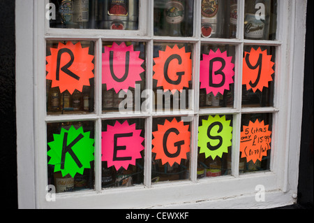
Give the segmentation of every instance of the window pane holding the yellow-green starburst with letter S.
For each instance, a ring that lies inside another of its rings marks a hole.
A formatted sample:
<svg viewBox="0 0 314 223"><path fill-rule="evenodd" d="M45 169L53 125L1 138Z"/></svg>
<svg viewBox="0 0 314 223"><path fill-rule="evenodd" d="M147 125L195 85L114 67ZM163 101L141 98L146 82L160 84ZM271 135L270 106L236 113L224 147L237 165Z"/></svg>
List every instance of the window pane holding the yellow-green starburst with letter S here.
<svg viewBox="0 0 314 223"><path fill-rule="evenodd" d="M231 174L232 115L200 116L197 178Z"/></svg>

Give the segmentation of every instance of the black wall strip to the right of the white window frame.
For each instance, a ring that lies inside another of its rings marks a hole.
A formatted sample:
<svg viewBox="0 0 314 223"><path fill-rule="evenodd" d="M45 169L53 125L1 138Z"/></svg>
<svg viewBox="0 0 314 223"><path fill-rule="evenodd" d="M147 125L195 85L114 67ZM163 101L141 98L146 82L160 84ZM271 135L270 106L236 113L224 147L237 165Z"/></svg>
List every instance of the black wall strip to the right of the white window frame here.
<svg viewBox="0 0 314 223"><path fill-rule="evenodd" d="M308 29L298 187L298 204L303 208L313 208L313 3L313 0L308 0L306 16Z"/></svg>

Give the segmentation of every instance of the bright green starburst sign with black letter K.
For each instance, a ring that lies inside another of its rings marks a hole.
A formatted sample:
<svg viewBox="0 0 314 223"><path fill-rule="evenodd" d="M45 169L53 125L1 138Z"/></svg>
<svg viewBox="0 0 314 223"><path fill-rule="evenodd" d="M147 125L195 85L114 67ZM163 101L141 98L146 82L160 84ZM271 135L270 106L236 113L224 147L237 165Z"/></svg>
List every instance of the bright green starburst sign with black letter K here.
<svg viewBox="0 0 314 223"><path fill-rule="evenodd" d="M51 158L48 164L54 165L54 172L61 171L62 176L76 173L83 174L84 168L91 168L94 161L94 139L89 138L90 132L84 132L83 127L69 130L61 129L60 134L54 134L54 141L47 143Z"/></svg>

